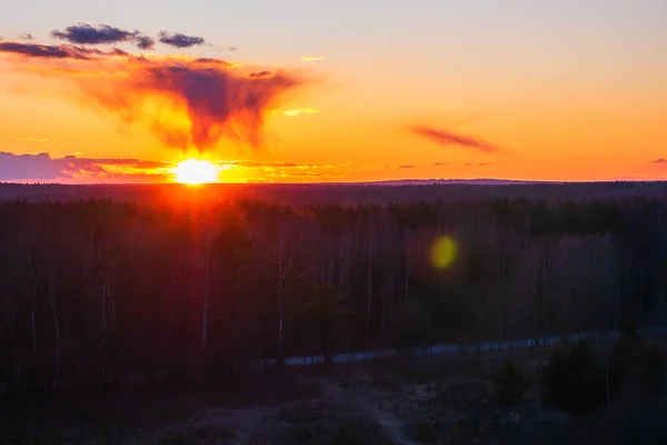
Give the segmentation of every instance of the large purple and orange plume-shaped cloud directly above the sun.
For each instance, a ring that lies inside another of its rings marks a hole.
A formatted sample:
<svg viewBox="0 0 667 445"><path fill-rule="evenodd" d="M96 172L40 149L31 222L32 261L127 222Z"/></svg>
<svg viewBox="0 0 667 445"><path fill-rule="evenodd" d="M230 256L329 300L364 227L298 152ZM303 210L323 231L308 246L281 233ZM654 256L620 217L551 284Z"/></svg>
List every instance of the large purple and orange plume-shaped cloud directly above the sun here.
<svg viewBox="0 0 667 445"><path fill-rule="evenodd" d="M79 85L94 107L123 122L148 126L163 144L183 149L211 149L222 138L259 147L266 113L285 92L303 83L287 72L249 78L223 63L151 60L130 62L129 68L126 77L83 78ZM150 107L155 100L188 125L165 119Z"/></svg>

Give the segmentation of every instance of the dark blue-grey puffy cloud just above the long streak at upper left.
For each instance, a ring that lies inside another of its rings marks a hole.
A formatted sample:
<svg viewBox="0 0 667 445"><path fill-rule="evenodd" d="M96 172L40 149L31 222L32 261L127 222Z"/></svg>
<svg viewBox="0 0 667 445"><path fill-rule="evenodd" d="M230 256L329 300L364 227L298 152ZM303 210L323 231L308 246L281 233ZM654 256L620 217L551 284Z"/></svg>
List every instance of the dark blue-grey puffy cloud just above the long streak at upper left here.
<svg viewBox="0 0 667 445"><path fill-rule="evenodd" d="M72 24L62 31L57 29L51 31L51 37L76 44L135 42L140 49L152 49L155 47L153 39L137 30L127 31L108 24L100 24L97 28L87 23Z"/></svg>

